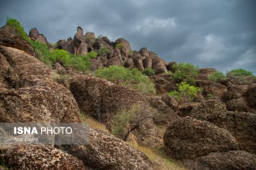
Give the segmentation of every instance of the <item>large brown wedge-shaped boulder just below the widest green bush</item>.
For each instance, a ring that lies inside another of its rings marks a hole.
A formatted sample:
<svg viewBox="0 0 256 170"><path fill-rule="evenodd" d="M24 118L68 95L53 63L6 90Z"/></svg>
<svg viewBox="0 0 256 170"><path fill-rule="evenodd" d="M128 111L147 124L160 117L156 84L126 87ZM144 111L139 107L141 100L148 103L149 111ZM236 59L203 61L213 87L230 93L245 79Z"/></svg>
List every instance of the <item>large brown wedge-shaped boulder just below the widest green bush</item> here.
<svg viewBox="0 0 256 170"><path fill-rule="evenodd" d="M80 108L99 121L109 120L120 109L130 109L138 101L144 101L138 91L93 76L73 78L70 89Z"/></svg>

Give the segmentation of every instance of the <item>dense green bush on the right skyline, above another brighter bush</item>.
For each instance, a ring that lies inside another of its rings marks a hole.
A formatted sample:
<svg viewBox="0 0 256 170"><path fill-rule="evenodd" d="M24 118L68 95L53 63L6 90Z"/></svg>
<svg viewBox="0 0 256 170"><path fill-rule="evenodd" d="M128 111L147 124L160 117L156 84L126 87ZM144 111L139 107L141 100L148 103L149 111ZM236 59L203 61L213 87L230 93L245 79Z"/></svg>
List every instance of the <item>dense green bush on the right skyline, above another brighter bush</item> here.
<svg viewBox="0 0 256 170"><path fill-rule="evenodd" d="M175 70L172 79L175 82L187 82L189 84L195 84L195 77L199 73L199 67L194 66L192 63L178 63L172 66Z"/></svg>

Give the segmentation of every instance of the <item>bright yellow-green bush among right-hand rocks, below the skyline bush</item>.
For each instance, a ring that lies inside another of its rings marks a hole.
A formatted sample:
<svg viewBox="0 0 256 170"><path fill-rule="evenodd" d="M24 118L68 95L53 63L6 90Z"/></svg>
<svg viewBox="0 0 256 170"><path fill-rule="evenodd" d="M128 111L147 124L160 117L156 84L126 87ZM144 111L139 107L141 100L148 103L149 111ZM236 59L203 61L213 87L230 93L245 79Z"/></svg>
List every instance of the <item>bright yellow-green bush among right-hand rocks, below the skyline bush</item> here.
<svg viewBox="0 0 256 170"><path fill-rule="evenodd" d="M201 88L189 85L187 82L181 82L180 84L177 84L177 86L178 91L171 91L169 95L176 96L178 101L181 101L182 99L193 101L198 93L202 91Z"/></svg>

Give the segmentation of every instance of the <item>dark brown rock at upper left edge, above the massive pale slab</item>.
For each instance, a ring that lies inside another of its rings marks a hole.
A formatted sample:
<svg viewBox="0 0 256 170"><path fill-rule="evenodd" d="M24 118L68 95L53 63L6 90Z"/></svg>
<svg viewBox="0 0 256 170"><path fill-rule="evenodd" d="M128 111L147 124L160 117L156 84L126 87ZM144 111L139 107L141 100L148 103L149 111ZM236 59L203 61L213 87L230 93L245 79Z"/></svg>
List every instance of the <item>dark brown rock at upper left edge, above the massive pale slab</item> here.
<svg viewBox="0 0 256 170"><path fill-rule="evenodd" d="M11 46L23 50L31 56L36 56L35 50L30 43L14 34L4 31L3 29L0 29L0 45Z"/></svg>

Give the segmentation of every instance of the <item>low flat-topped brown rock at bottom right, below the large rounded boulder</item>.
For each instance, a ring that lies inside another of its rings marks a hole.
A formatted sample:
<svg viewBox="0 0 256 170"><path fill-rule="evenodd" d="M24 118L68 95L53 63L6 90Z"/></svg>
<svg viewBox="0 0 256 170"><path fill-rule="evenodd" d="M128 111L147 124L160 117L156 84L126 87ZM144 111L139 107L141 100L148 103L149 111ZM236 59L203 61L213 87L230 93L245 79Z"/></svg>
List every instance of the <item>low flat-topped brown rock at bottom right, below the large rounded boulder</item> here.
<svg viewBox="0 0 256 170"><path fill-rule="evenodd" d="M185 162L189 169L244 170L256 169L256 156L246 151L213 152Z"/></svg>

